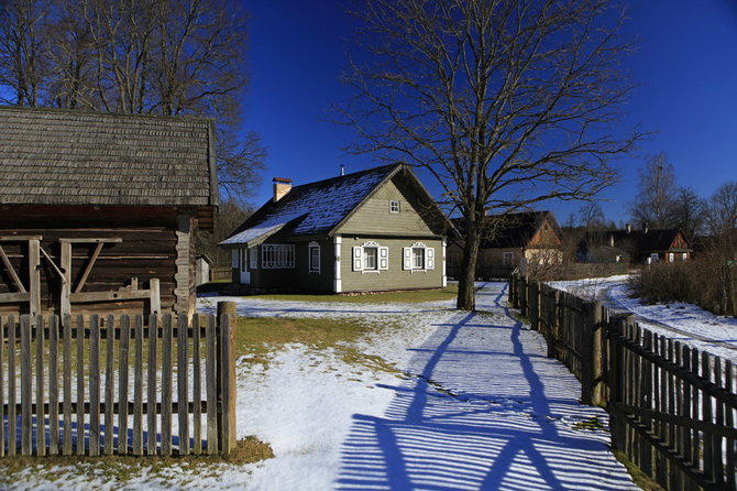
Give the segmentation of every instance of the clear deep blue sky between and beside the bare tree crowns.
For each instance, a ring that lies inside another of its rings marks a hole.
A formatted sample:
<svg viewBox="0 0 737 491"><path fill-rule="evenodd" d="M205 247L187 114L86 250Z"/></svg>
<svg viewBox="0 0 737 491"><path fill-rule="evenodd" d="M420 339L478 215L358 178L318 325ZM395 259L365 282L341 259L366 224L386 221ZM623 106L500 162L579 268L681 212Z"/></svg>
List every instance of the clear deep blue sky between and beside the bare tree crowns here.
<svg viewBox="0 0 737 491"><path fill-rule="evenodd" d="M252 15L244 127L258 132L270 152L252 201L271 196L274 176L305 184L338 175L340 164L348 172L376 165L344 154L340 149L353 133L328 121L330 106L349 97L338 76L353 29L341 1L251 0L243 7ZM601 195L615 220L627 219L637 168L648 155L668 153L678 184L700 196L737 179L737 1L644 0L627 33L639 40L628 61L639 87L622 124L657 133L617 161L622 183ZM580 204L543 207L563 222Z"/></svg>

